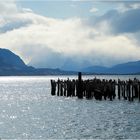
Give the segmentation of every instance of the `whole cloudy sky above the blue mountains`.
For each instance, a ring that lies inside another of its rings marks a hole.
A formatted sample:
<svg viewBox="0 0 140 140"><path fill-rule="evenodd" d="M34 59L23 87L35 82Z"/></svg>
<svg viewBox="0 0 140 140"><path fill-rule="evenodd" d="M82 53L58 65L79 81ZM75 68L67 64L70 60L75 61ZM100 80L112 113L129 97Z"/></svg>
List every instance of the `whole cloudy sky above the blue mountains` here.
<svg viewBox="0 0 140 140"><path fill-rule="evenodd" d="M137 61L139 36L140 1L0 0L0 47L34 67Z"/></svg>

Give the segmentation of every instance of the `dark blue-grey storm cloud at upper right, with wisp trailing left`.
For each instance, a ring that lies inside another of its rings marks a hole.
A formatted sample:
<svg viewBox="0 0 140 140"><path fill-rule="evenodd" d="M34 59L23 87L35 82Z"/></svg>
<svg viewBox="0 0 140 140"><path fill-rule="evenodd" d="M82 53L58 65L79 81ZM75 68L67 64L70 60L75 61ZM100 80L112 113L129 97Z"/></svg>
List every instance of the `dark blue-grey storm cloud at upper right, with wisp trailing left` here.
<svg viewBox="0 0 140 140"><path fill-rule="evenodd" d="M140 31L140 9L131 9L125 12L111 10L100 17L91 18L89 24L97 26L106 21L112 34L135 33Z"/></svg>

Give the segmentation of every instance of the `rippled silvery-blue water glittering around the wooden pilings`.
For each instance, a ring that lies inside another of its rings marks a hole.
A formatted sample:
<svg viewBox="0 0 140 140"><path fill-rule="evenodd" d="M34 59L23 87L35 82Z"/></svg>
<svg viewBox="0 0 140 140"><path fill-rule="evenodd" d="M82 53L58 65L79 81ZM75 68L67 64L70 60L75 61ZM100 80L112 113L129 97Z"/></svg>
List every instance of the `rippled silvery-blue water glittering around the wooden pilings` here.
<svg viewBox="0 0 140 140"><path fill-rule="evenodd" d="M140 79L140 76L96 77ZM57 78L58 76L0 77L0 138L140 138L138 101L132 103L117 99L96 101L52 97L50 79Z"/></svg>

